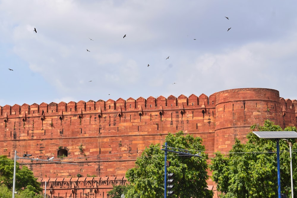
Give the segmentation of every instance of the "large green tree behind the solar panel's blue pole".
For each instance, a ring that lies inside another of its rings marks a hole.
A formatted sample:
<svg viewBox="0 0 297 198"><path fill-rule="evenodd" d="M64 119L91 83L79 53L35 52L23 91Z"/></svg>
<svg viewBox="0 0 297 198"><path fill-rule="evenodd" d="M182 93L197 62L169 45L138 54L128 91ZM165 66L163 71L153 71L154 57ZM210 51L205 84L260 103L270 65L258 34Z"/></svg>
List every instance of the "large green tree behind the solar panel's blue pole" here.
<svg viewBox="0 0 297 198"><path fill-rule="evenodd" d="M264 126L255 124L251 131L283 131L279 125L266 120ZM296 131L296 127L287 127L285 131ZM222 198L257 198L277 197L277 153L276 141L258 138L250 132L247 134L247 143L243 144L235 140L233 148L228 155L216 153L212 159L210 168L212 179L217 183L217 190ZM289 140L295 142L295 140ZM283 140L279 140L281 190L290 197L290 154L289 146ZM297 148L297 143L292 149ZM297 155L292 154L293 161ZM296 165L293 167L297 179ZM295 186L296 186L295 182ZM296 192L296 187L294 193Z"/></svg>

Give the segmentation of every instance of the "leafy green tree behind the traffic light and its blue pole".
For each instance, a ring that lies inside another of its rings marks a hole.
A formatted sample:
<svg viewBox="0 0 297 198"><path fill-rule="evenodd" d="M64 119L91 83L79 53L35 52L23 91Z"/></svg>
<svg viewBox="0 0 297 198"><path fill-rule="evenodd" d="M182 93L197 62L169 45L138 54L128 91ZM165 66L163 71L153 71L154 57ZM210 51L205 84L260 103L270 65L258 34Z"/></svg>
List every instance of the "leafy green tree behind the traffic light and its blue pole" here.
<svg viewBox="0 0 297 198"><path fill-rule="evenodd" d="M213 193L207 189L207 159L208 155L203 153L205 147L201 144L200 137L184 135L179 131L174 136L168 134L165 142L169 147L187 149L192 154L201 152L202 158L178 156L176 153L168 152L168 161L171 162L168 172L174 176L174 197L180 198L211 198ZM160 144L151 144L146 148L141 157L135 162L135 167L126 172L126 178L132 188L125 194L133 198L159 198L164 197L164 151Z"/></svg>

